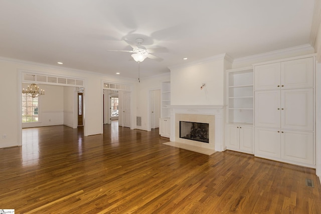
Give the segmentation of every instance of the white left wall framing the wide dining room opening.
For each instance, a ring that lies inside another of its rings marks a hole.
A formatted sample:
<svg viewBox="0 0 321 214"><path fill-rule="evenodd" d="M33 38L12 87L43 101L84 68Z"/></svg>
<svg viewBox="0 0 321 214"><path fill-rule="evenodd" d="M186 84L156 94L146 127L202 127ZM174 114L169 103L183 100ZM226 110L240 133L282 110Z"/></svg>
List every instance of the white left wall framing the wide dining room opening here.
<svg viewBox="0 0 321 214"><path fill-rule="evenodd" d="M84 134L93 135L103 132L102 123L102 80L133 84L134 80L117 76L103 76L96 73L84 72L49 66L32 62L0 58L0 148L21 145L21 71L30 71L56 76L82 78L85 80L84 92ZM45 90L46 94L47 91ZM62 105L63 109L63 105ZM63 111L63 110L62 110ZM133 110L133 114L135 111ZM3 135L7 138L3 139Z"/></svg>

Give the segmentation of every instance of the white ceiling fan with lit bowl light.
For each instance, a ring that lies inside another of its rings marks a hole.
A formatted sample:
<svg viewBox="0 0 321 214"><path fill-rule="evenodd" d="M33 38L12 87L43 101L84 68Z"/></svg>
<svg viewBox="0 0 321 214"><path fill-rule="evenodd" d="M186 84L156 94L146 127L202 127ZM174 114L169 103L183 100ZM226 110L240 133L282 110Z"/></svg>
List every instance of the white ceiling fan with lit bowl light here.
<svg viewBox="0 0 321 214"><path fill-rule="evenodd" d="M124 40L128 45L132 47L132 51L125 51L125 50L107 50L107 51L115 51L115 52L128 52L132 53L131 57L138 63L144 61L144 59L149 58L156 61L162 61L162 58L156 57L155 55L152 55L153 49L146 49L144 46L141 45L141 43L144 41L141 38L136 39L137 44L132 44L128 40Z"/></svg>

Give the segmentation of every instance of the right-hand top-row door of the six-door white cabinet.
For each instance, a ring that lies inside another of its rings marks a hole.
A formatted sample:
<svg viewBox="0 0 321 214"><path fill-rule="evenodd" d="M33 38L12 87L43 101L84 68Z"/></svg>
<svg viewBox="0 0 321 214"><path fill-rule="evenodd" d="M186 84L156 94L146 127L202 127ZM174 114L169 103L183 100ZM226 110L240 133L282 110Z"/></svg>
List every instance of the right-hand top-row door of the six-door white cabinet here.
<svg viewBox="0 0 321 214"><path fill-rule="evenodd" d="M313 57L281 63L281 89L313 87Z"/></svg>

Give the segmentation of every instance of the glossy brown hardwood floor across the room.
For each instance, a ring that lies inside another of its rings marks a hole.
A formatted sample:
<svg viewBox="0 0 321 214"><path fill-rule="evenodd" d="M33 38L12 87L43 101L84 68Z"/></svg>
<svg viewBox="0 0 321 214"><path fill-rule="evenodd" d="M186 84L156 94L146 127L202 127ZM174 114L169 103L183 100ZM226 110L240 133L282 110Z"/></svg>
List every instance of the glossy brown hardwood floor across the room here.
<svg viewBox="0 0 321 214"><path fill-rule="evenodd" d="M0 149L0 209L16 213L321 213L315 170L225 151L200 154L104 125L23 129ZM305 185L305 178L314 188Z"/></svg>

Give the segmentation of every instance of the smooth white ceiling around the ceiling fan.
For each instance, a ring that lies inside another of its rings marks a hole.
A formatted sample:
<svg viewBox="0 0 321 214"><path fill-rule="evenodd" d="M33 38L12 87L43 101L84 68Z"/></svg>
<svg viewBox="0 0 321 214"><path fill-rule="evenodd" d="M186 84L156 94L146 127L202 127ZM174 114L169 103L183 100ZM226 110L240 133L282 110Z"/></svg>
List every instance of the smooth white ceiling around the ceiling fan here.
<svg viewBox="0 0 321 214"><path fill-rule="evenodd" d="M136 78L124 41L159 48L140 76L310 43L314 0L0 0L0 56ZM182 58L187 57L184 61Z"/></svg>

